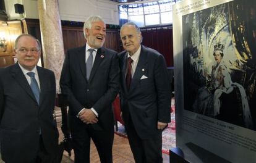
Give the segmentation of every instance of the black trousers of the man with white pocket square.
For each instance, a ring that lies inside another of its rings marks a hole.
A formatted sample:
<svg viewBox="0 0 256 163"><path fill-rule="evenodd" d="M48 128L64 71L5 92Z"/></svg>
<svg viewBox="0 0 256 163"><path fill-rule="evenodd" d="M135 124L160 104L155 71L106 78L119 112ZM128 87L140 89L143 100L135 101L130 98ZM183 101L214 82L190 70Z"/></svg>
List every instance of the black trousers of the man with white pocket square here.
<svg viewBox="0 0 256 163"><path fill-rule="evenodd" d="M162 135L155 138L141 139L137 134L134 123L129 116L126 125L127 136L136 163L161 163L162 157Z"/></svg>

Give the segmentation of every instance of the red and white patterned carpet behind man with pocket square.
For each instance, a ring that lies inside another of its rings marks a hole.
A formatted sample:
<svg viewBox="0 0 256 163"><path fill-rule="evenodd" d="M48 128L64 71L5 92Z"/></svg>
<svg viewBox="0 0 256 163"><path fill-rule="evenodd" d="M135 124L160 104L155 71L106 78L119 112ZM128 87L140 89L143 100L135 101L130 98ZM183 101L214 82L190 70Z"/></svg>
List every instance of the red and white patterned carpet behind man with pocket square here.
<svg viewBox="0 0 256 163"><path fill-rule="evenodd" d="M175 107L174 107L174 99L171 101L171 123L168 124L168 127L163 131L162 139L163 146L162 152L165 154L169 154L169 149L176 147L176 131L175 131ZM118 131L117 135L124 136L127 138L127 134L124 130L124 126L117 122Z"/></svg>

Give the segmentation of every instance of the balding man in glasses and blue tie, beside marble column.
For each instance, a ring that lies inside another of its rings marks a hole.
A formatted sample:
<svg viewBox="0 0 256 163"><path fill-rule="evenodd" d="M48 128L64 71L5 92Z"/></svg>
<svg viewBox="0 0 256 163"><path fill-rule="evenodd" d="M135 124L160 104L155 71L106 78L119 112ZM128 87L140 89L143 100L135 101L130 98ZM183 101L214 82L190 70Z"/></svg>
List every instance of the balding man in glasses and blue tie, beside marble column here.
<svg viewBox="0 0 256 163"><path fill-rule="evenodd" d="M0 69L2 159L7 163L56 162L54 73L36 66L41 45L33 36L20 35L14 48L18 62Z"/></svg>

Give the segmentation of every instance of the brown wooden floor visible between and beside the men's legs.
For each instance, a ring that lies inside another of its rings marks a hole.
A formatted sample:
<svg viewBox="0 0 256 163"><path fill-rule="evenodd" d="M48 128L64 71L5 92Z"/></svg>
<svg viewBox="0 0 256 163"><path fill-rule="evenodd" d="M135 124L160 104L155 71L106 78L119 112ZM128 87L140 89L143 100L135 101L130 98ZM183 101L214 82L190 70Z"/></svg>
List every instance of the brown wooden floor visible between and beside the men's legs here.
<svg viewBox="0 0 256 163"><path fill-rule="evenodd" d="M59 129L59 140L63 138L63 134L60 129L61 119L57 118L58 129ZM98 152L91 141L91 153L90 153L90 162L91 163L100 163L100 158ZM72 163L74 162L74 152L72 151L71 156L69 157L67 152L64 151L62 157L62 163ZM114 135L114 144L113 144L113 162L114 163L129 163L134 162L134 157L132 156L132 151L130 151L130 146L127 138L124 138L119 135ZM169 163L169 155L163 154L163 163Z"/></svg>

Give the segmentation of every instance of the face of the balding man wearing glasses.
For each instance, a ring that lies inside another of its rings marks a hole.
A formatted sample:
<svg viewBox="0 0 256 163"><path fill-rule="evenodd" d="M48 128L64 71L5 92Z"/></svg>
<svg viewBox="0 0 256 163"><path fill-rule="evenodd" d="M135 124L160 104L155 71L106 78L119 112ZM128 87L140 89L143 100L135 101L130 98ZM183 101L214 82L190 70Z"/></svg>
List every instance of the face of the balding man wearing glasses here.
<svg viewBox="0 0 256 163"><path fill-rule="evenodd" d="M32 70L39 58L41 51L38 49L36 40L30 36L22 36L18 43L17 49L15 49L15 55L18 62L26 70Z"/></svg>

